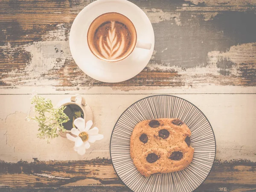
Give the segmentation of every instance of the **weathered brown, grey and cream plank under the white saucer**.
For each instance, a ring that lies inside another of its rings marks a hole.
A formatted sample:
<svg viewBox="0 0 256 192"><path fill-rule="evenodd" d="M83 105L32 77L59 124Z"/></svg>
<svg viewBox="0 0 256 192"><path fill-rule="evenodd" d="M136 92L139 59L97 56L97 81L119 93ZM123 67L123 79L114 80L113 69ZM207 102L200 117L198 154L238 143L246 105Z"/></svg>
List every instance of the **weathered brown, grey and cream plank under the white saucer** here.
<svg viewBox="0 0 256 192"><path fill-rule="evenodd" d="M1 1L1 87L125 86L132 90L256 85L255 1L132 2L151 20L154 55L138 76L108 84L84 74L69 51L71 24L89 1Z"/></svg>

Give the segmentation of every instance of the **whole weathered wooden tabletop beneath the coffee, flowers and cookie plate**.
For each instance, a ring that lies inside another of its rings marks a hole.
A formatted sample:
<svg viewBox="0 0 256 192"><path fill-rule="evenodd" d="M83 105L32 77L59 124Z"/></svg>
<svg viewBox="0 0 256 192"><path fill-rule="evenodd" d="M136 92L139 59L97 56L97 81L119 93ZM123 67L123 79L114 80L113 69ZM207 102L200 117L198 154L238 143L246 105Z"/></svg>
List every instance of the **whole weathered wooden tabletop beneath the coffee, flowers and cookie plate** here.
<svg viewBox="0 0 256 192"><path fill-rule="evenodd" d="M111 164L111 132L128 106L153 94L187 99L212 124L216 160L196 191L256 191L256 1L132 0L151 20L154 54L114 84L84 74L70 54L70 27L90 2L0 2L0 191L129 191ZM32 93L54 104L82 94L105 138L84 156L61 137L38 139L25 120Z"/></svg>

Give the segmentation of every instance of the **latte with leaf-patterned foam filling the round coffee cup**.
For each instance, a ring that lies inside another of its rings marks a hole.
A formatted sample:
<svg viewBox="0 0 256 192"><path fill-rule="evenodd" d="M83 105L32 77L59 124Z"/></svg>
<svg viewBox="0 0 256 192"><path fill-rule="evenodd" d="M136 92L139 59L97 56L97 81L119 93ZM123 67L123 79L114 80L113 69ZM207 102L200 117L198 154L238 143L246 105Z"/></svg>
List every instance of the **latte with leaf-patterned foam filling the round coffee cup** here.
<svg viewBox="0 0 256 192"><path fill-rule="evenodd" d="M105 61L122 60L135 47L137 35L134 25L119 13L103 15L97 17L88 29L87 41L90 50Z"/></svg>

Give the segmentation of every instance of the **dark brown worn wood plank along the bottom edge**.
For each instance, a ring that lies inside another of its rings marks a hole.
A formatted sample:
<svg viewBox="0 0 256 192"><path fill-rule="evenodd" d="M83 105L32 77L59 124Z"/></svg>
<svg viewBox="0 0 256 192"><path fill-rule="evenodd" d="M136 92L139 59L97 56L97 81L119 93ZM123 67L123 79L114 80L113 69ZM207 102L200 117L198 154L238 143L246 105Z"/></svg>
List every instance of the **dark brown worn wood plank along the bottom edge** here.
<svg viewBox="0 0 256 192"><path fill-rule="evenodd" d="M196 191L256 189L256 163L216 160L209 177ZM49 188L61 190L129 191L113 170L111 160L0 163L0 189ZM84 186L81 187L81 186ZM74 188L75 187L75 188ZM78 188L77 188L78 187ZM44 189L41 189L42 191ZM29 191L29 190L28 190Z"/></svg>

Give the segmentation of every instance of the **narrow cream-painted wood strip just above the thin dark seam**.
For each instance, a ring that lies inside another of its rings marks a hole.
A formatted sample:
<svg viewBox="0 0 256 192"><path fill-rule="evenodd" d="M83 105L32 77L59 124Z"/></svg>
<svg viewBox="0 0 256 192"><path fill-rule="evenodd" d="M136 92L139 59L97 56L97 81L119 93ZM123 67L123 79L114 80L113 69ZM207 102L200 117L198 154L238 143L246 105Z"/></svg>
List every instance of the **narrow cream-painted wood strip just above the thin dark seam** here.
<svg viewBox="0 0 256 192"><path fill-rule="evenodd" d="M139 89L140 88L140 89ZM54 87L54 86L22 86L18 89L8 89L7 87L0 89L0 95L65 95L65 94L134 94L134 95L148 95L148 94L255 94L256 87L233 86L233 85L211 85L207 87L172 87L172 86L89 86L89 87Z"/></svg>

